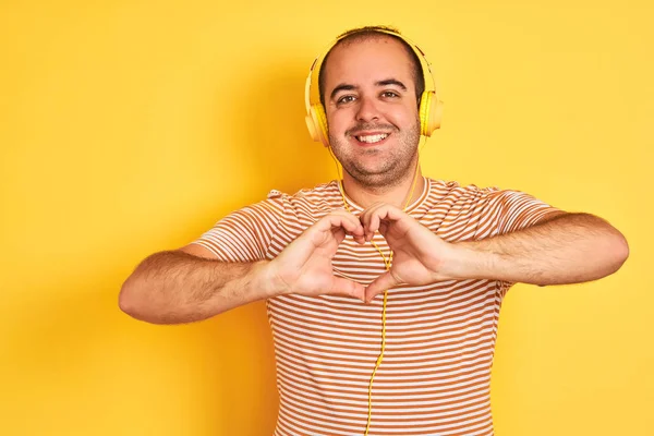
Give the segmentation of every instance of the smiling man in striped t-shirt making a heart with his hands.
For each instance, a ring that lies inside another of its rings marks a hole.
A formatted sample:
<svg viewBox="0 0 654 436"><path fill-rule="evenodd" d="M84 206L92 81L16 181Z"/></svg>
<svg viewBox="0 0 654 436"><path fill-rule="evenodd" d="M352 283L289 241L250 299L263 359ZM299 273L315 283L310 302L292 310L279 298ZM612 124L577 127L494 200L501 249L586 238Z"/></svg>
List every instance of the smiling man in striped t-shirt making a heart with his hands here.
<svg viewBox="0 0 654 436"><path fill-rule="evenodd" d="M149 256L123 284L120 307L159 324L265 299L276 435L492 435L491 366L510 286L594 280L628 256L597 217L424 178L419 55L388 28L342 36L319 74L342 185L272 191Z"/></svg>

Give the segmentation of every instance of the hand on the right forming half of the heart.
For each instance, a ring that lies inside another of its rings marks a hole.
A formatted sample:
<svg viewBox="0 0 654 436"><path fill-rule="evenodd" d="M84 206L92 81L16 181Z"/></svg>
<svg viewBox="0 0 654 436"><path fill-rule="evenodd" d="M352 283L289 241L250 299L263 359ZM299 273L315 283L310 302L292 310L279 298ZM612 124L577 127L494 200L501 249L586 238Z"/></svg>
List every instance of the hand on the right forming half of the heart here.
<svg viewBox="0 0 654 436"><path fill-rule="evenodd" d="M455 246L399 208L376 203L364 210L360 219L366 241L379 230L393 253L390 270L368 284L366 302L398 284L427 284L453 278L445 271L445 266L446 261L457 254Z"/></svg>

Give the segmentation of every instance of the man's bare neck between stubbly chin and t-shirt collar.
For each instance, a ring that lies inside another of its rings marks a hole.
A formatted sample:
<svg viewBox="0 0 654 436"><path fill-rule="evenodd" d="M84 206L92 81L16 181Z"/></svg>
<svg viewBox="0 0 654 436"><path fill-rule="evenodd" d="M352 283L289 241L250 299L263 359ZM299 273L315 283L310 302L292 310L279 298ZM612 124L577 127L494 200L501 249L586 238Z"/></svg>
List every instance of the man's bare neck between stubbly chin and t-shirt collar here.
<svg viewBox="0 0 654 436"><path fill-rule="evenodd" d="M413 186L414 177L415 186ZM425 181L422 178L420 167L416 168L415 174L409 174L392 186L364 186L347 172L343 173L343 190L346 194L364 209L375 203L387 203L404 209L420 197L424 184ZM409 198L409 195L411 195L411 198Z"/></svg>

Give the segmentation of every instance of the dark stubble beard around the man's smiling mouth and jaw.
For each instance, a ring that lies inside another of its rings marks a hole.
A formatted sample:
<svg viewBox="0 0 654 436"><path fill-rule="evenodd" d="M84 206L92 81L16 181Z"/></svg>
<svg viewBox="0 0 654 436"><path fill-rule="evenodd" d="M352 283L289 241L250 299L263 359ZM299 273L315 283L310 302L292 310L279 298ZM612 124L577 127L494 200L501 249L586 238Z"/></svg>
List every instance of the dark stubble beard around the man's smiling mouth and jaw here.
<svg viewBox="0 0 654 436"><path fill-rule="evenodd" d="M414 125L405 131L395 130L392 136L398 143L391 149L376 147L364 148L353 153L347 137L335 137L329 134L329 144L334 155L343 169L362 187L374 191L385 190L401 184L407 178L412 178L415 171L415 158L420 143L420 120L416 118ZM356 155L374 156L385 154L383 162L364 165Z"/></svg>

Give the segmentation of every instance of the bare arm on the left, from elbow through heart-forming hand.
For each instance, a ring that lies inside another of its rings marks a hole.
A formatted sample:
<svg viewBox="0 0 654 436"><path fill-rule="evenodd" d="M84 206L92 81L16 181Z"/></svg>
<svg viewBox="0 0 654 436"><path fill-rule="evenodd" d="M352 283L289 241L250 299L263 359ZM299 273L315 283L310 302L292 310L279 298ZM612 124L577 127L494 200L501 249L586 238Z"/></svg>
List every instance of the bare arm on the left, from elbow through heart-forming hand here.
<svg viewBox="0 0 654 436"><path fill-rule="evenodd" d="M306 229L274 261L221 262L199 245L156 253L125 280L119 305L137 319L177 324L287 293L363 300L362 284L332 272L331 258L346 234L364 243L359 219L337 210Z"/></svg>

